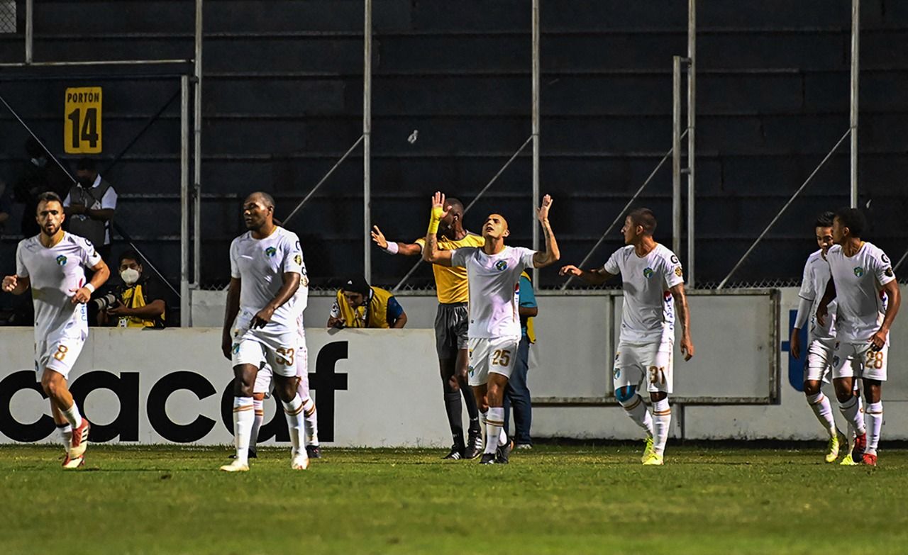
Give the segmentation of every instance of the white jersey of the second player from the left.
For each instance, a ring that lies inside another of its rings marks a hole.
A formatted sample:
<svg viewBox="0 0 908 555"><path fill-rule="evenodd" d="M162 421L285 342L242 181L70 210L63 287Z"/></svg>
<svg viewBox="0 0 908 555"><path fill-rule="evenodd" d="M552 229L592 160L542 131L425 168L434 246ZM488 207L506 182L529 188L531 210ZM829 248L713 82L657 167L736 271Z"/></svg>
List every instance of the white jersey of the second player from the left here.
<svg viewBox="0 0 908 555"><path fill-rule="evenodd" d="M233 239L230 246L231 277L242 280L240 288L240 316L254 316L281 290L283 274L301 274L300 287L309 286L306 267L302 262L300 239L287 229L278 227L264 239L253 239L252 231ZM278 307L271 323L295 329L297 316L305 307L305 299L294 296Z"/></svg>

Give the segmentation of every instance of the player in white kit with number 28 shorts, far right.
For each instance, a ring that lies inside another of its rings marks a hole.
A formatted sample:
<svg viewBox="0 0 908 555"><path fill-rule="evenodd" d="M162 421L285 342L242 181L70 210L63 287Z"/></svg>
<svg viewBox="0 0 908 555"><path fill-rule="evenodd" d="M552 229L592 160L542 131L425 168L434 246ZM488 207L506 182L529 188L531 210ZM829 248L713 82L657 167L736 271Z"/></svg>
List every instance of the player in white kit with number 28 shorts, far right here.
<svg viewBox="0 0 908 555"><path fill-rule="evenodd" d="M829 304L836 301L837 342L833 356L833 385L839 410L854 425L852 458L876 465L876 450L883 428L883 382L889 362L889 329L902 304L893 264L881 248L861 240L864 214L840 209L833 220L835 245L826 253L832 274L816 319L824 325ZM854 398L854 378L864 382L864 413L870 418L867 436L864 414Z"/></svg>

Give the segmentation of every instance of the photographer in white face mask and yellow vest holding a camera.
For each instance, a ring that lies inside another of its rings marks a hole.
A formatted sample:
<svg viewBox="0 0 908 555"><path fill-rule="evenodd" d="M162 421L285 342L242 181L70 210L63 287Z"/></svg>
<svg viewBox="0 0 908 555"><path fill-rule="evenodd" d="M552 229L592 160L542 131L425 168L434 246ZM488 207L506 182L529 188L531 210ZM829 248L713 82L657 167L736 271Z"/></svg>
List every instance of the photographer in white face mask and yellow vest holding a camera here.
<svg viewBox="0 0 908 555"><path fill-rule="evenodd" d="M93 301L99 308L98 325L163 327L164 301L154 298L153 287L149 285L151 280L142 275L139 255L134 250L123 252L117 269L123 283L114 287L113 293Z"/></svg>

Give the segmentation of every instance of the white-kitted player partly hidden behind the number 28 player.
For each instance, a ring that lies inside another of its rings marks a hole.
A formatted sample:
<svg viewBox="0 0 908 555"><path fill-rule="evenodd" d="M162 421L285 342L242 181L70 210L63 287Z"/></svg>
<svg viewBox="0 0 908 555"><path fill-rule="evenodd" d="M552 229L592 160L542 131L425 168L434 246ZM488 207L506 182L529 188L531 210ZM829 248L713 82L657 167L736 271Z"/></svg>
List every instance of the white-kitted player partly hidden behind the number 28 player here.
<svg viewBox="0 0 908 555"><path fill-rule="evenodd" d="M840 436L842 433L835 427L833 405L829 397L823 394L820 386L823 382L829 383L832 373L833 357L835 350L835 301L829 307L829 318L825 326L816 321L816 303L826 291L829 282L829 263L826 262L826 252L833 246L833 219L834 212L824 212L816 219L814 231L816 244L819 246L804 264L804 277L801 280L801 290L798 292L800 301L795 316L795 326L792 327L791 354L801 358L801 329L810 318L810 333L808 336L807 362L804 365L804 396L807 404L814 411L816 419L820 421L824 431L829 434L829 443L824 459L826 463L834 463L839 456ZM858 403L861 398L858 395ZM849 441L854 435L853 426L848 425L850 432ZM842 464L854 464L851 456L845 456Z"/></svg>

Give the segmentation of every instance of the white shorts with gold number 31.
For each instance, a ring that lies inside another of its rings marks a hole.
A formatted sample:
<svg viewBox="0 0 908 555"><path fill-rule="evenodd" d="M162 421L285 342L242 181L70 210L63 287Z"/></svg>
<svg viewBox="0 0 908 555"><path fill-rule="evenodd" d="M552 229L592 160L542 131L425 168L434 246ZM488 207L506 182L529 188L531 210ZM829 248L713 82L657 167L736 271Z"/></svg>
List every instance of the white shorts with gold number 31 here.
<svg viewBox="0 0 908 555"><path fill-rule="evenodd" d="M639 386L646 379L646 391L672 393L675 338L665 334L646 344L618 342L612 379L617 391L627 385Z"/></svg>

